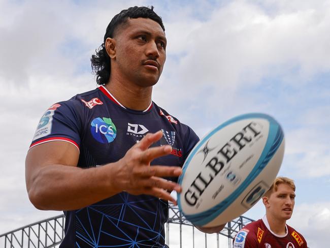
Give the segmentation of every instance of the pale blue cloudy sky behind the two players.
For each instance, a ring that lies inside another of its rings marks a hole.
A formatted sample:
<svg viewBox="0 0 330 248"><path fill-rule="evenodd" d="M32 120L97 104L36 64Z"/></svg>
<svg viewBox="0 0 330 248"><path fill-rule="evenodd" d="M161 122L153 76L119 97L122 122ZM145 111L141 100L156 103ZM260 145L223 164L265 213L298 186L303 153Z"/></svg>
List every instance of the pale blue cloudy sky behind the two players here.
<svg viewBox="0 0 330 248"><path fill-rule="evenodd" d="M50 105L96 87L90 56L134 5L154 5L166 27L153 100L200 137L238 114L275 117L286 141L279 174L297 187L288 224L310 247L328 246L329 0L0 0L0 234L60 214L28 201L26 151ZM263 212L259 202L244 215Z"/></svg>

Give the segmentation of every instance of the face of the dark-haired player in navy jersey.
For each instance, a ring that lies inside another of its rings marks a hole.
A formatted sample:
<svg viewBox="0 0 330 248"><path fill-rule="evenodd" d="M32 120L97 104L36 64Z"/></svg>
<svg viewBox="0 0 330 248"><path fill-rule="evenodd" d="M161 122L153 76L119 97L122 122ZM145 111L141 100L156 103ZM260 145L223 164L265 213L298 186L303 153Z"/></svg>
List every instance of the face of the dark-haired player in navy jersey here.
<svg viewBox="0 0 330 248"><path fill-rule="evenodd" d="M114 35L111 63L119 76L145 87L157 83L166 60L166 37L161 26L148 18L129 18Z"/></svg>

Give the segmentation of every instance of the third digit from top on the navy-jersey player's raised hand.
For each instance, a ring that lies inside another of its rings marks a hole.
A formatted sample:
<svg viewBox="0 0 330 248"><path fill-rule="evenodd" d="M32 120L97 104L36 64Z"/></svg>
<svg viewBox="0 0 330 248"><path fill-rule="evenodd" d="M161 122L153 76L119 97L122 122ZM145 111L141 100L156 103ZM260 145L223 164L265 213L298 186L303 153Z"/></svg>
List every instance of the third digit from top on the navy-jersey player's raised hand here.
<svg viewBox="0 0 330 248"><path fill-rule="evenodd" d="M136 174L142 177L177 177L182 173L181 167L152 165L140 167Z"/></svg>

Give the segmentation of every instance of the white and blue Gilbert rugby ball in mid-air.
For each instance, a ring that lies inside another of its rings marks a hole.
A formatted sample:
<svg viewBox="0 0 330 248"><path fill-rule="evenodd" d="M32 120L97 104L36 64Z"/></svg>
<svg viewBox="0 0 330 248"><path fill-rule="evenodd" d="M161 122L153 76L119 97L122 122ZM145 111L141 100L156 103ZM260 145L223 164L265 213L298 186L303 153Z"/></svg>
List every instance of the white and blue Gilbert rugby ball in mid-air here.
<svg viewBox="0 0 330 248"><path fill-rule="evenodd" d="M237 218L271 187L283 154L283 131L271 116L229 119L191 150L179 177L179 209L195 226L214 227Z"/></svg>

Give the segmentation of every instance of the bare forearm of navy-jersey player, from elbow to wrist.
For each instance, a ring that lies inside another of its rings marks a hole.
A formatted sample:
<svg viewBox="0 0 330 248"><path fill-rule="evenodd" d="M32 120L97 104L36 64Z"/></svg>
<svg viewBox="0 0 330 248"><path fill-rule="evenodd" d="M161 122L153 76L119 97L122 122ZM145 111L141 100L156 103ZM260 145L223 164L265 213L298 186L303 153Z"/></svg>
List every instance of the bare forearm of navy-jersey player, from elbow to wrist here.
<svg viewBox="0 0 330 248"><path fill-rule="evenodd" d="M97 168L47 165L28 187L32 204L42 210L73 210L118 194L111 183L115 163Z"/></svg>

